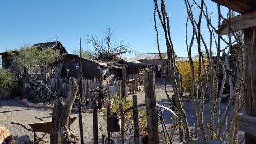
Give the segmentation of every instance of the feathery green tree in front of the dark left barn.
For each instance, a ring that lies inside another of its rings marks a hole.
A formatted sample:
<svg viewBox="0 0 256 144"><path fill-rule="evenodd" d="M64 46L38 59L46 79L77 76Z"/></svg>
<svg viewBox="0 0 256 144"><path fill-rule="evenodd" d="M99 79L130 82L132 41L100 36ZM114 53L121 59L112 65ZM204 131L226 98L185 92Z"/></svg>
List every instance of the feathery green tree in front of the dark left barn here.
<svg viewBox="0 0 256 144"><path fill-rule="evenodd" d="M10 51L9 54L13 56L12 68L20 73L24 67L28 67L28 72L31 73L33 68L48 65L53 61L54 57L59 55L57 52L54 52L54 48L40 49L38 47L23 47L18 53Z"/></svg>

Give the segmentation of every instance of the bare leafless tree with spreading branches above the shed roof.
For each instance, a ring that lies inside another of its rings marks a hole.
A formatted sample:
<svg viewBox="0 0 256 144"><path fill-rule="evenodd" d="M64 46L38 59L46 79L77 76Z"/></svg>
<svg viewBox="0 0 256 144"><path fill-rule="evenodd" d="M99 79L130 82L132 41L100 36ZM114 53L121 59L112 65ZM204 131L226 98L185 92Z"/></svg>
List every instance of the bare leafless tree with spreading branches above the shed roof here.
<svg viewBox="0 0 256 144"><path fill-rule="evenodd" d="M130 45L127 45L124 41L112 43L113 35L114 31L108 27L106 30L103 30L102 39L98 39L96 36L89 36L88 44L97 53L97 59L113 60L118 55L134 52Z"/></svg>

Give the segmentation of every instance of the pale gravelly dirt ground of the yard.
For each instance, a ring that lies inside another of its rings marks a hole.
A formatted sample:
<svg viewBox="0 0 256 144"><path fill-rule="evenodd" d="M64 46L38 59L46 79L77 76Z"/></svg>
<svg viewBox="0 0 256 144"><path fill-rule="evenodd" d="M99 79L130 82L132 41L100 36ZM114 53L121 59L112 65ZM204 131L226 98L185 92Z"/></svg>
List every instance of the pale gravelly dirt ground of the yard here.
<svg viewBox="0 0 256 144"><path fill-rule="evenodd" d="M164 90L164 82L162 79L156 79L156 102L170 108L170 103L166 97ZM173 94L173 89L170 83L167 83L167 91L171 96ZM136 94L138 97L138 103L145 102L145 95L143 92L139 92ZM128 99L132 99L132 95L127 97ZM209 102L205 102L205 121L209 121L209 113L210 109L207 107ZM184 107L188 119L188 124L190 127L194 126L194 115L193 109L191 108L191 102L184 102ZM221 110L224 111L226 108L225 104L221 104ZM232 109L232 108L231 108ZM230 115L230 114L229 114ZM71 116L78 116L77 113L72 113ZM39 117L44 120L51 119L52 110L45 108L29 108L21 103L21 99L12 99L12 100L0 100L0 125L7 127L10 130L11 135L29 135L30 139L33 140L33 134L21 126L13 125L11 122L18 122L24 124L26 127L30 128L27 124L39 122L38 119L34 117ZM82 113L83 117L83 134L84 134L84 142L85 143L93 143L93 125L92 125L92 114ZM102 139L102 134L106 134L107 123L102 119L102 113L98 114L98 125L99 127L103 127L104 132L99 130L99 140ZM73 129L76 135L79 135L79 122L78 119L71 125L71 129ZM243 135L241 132L239 135ZM47 134L44 138L45 142L49 143L50 135ZM99 143L102 143L99 141Z"/></svg>

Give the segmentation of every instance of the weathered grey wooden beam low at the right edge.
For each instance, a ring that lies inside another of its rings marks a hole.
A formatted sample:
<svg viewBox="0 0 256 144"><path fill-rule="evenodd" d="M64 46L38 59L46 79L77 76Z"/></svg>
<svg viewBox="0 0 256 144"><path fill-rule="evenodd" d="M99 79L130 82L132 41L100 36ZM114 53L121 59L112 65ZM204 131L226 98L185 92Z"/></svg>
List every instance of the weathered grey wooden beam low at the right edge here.
<svg viewBox="0 0 256 144"><path fill-rule="evenodd" d="M239 130L256 136L256 117L239 113L237 114L237 125Z"/></svg>

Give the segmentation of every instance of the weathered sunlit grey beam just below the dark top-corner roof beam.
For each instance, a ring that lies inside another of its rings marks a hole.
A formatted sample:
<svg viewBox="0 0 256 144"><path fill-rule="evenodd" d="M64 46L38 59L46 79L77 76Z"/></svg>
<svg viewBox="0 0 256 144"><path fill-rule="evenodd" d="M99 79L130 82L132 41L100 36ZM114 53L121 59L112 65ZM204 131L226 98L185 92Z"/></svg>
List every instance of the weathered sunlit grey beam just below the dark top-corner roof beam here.
<svg viewBox="0 0 256 144"><path fill-rule="evenodd" d="M231 19L231 29L233 31L243 30L254 26L256 26L256 11L237 15ZM222 22L219 30L221 35L228 34L229 26L226 20Z"/></svg>

